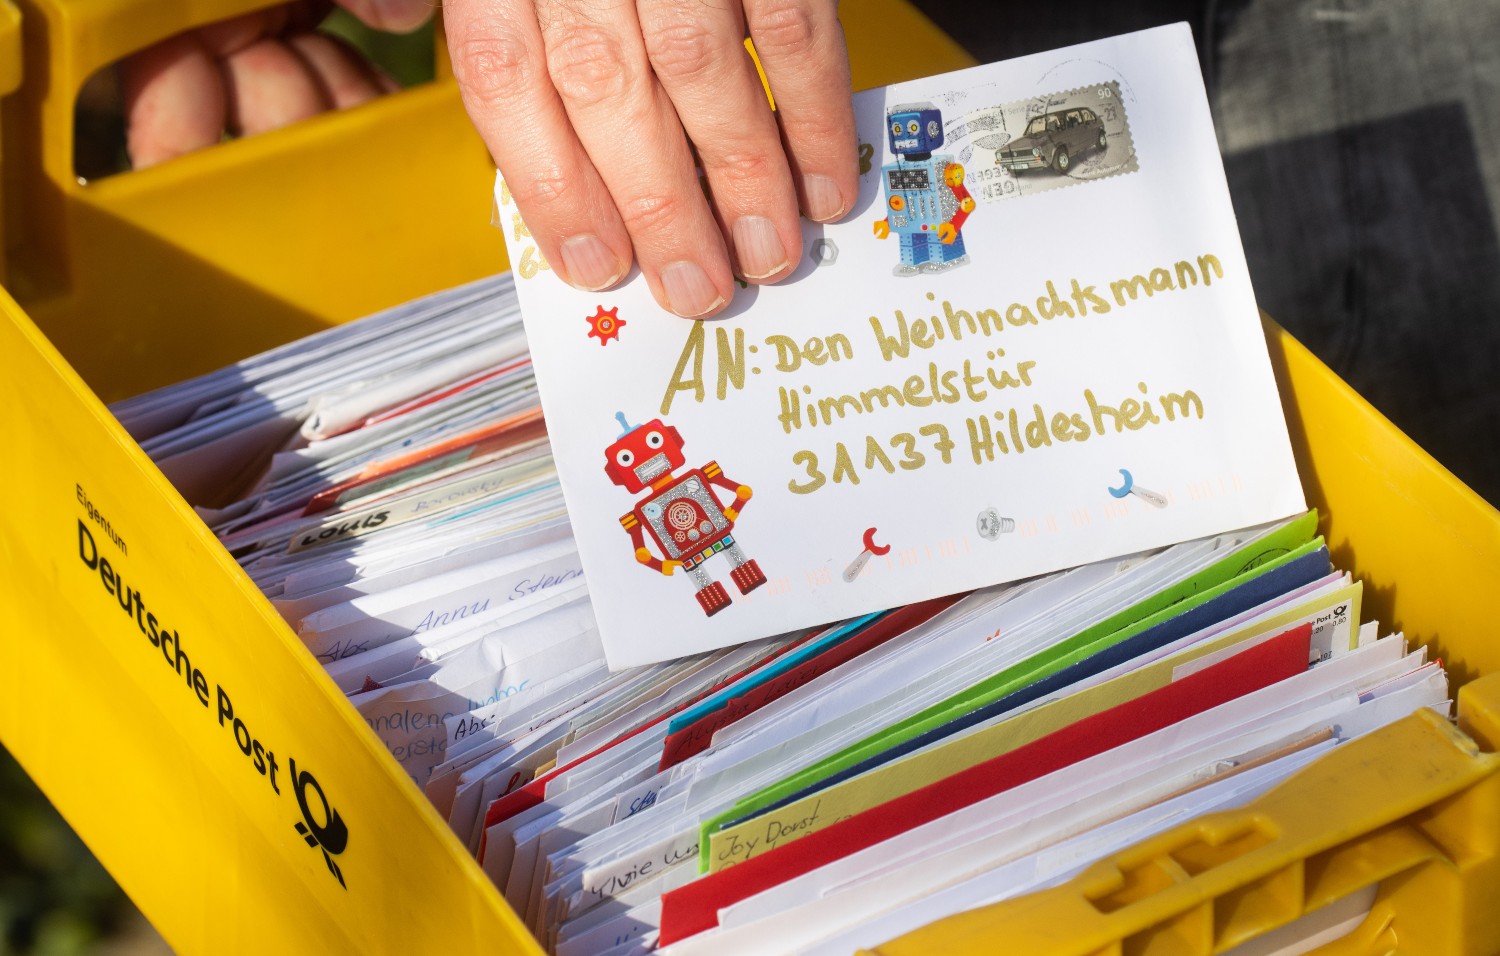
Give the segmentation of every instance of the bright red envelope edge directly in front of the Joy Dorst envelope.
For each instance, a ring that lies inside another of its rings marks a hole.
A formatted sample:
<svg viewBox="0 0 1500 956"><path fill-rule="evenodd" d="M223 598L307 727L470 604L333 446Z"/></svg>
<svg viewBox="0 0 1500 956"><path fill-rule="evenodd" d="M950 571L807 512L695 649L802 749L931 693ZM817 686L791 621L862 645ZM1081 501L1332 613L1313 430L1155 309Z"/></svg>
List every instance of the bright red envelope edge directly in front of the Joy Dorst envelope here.
<svg viewBox="0 0 1500 956"><path fill-rule="evenodd" d="M1134 701L672 890L662 896L660 944L712 929L722 908L825 863L1300 674L1311 638L1312 626L1302 624Z"/></svg>

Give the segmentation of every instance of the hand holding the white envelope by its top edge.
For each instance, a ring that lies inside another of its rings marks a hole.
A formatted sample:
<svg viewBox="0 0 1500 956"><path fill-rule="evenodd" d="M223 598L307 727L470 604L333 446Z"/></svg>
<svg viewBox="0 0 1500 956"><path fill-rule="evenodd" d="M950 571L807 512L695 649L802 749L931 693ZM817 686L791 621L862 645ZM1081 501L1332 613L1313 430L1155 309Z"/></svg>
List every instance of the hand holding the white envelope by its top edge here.
<svg viewBox="0 0 1500 956"><path fill-rule="evenodd" d="M470 117L574 287L636 260L663 308L706 317L734 275L795 269L798 210L832 221L858 194L834 0L447 0L444 29Z"/></svg>

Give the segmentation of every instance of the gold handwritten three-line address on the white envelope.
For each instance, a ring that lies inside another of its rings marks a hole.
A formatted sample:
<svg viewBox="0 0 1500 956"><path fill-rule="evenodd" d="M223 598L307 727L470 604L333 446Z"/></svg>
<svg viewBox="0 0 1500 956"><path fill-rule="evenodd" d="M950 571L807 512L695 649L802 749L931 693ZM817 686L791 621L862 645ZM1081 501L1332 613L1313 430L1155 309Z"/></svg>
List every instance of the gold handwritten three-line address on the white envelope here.
<svg viewBox="0 0 1500 956"><path fill-rule="evenodd" d="M922 311L930 309L928 315L908 317L904 311L896 309L884 320L870 315L868 327L880 360L892 363L948 339L986 339L1006 329L1104 315L1155 296L1200 285L1208 288L1222 278L1224 267L1218 257L1204 254L1107 285L1086 285L1078 279L1062 285L1047 281L1046 293L1034 302L1012 302L1004 309L962 309L927 293L928 305ZM694 402L706 401L710 381L714 398L723 401L732 392L744 389L747 374L771 371L788 375L856 360L854 341L840 332L802 342L772 333L760 344L752 344L746 342L744 329L716 326L714 341L710 344L708 329L705 323L690 326L662 396L663 416L672 411L672 402L682 393ZM714 368L705 371L706 363ZM932 461L952 464L954 452L964 438L969 458L981 465L1054 444L1197 422L1204 416L1203 399L1192 389L1154 389L1146 381L1138 381L1134 392L1124 396L1101 398L1094 389L1083 387L1066 407L1006 401L1008 395L1032 387L1042 375L1036 362L1008 356L1005 348L994 347L987 348L982 359L970 357L951 366L928 362L900 381L872 381L870 387L849 393L819 395L807 383L777 386L777 422L788 435L830 428L836 422L879 414L888 408L1004 402L1000 408L966 416L952 434L948 425L934 420L915 431L867 434L862 440L832 441L831 447L820 450L796 449L790 455L796 474L788 482L788 488L795 494L812 494L830 483L858 485L862 473L915 471ZM962 459L962 452L958 458Z"/></svg>

